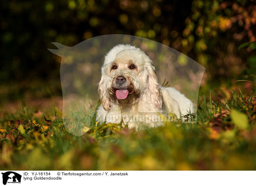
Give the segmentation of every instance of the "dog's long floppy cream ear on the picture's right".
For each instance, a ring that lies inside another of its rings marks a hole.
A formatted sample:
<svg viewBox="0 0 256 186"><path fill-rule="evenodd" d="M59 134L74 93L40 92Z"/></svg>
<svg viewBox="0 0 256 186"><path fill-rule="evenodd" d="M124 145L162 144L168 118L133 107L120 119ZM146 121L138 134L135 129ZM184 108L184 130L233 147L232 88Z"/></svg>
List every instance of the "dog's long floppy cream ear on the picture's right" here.
<svg viewBox="0 0 256 186"><path fill-rule="evenodd" d="M149 58L149 57L148 57ZM150 58L149 58L150 60ZM146 69L148 71L148 90L151 93L151 101L156 108L162 108L163 106L163 95L159 84L157 82L157 75L155 72L155 68L153 62L150 60L147 63Z"/></svg>

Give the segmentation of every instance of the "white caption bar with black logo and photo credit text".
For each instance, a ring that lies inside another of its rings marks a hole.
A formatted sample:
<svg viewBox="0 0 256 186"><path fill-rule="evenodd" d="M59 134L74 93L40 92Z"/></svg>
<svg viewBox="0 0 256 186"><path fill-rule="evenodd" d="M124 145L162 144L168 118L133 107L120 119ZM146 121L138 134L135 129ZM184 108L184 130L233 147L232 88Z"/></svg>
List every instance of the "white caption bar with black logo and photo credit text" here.
<svg viewBox="0 0 256 186"><path fill-rule="evenodd" d="M256 171L1 171L6 186L251 185Z"/></svg>

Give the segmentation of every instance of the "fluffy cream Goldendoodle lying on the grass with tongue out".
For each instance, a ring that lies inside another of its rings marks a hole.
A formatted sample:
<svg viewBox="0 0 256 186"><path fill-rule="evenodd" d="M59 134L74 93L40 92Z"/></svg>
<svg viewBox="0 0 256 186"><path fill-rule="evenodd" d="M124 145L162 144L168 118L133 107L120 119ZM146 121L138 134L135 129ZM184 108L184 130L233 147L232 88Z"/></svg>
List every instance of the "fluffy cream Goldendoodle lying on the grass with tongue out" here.
<svg viewBox="0 0 256 186"><path fill-rule="evenodd" d="M153 62L141 49L119 44L106 55L99 82L102 122L122 122L128 127L163 124L158 116L194 113L192 102L172 87L158 84Z"/></svg>

